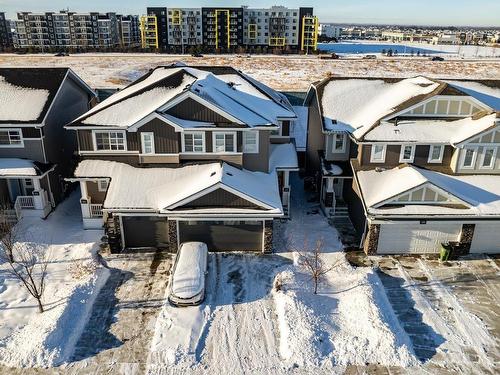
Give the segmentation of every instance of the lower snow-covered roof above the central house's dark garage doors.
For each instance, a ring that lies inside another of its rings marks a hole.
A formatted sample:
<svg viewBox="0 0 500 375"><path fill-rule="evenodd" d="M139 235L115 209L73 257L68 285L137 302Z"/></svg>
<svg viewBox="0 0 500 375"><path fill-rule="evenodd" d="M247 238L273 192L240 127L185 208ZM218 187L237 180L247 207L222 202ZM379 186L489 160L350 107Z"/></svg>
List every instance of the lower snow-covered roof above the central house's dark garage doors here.
<svg viewBox="0 0 500 375"><path fill-rule="evenodd" d="M104 201L106 209L137 209L169 212L200 192L221 187L263 206L260 213L282 213L275 172L252 172L226 163L187 165L180 168L135 168L105 160L83 160L77 178L110 178ZM209 213L227 209L210 209ZM229 211L248 212L248 209ZM250 210L252 211L252 210ZM194 212L190 210L189 212Z"/></svg>

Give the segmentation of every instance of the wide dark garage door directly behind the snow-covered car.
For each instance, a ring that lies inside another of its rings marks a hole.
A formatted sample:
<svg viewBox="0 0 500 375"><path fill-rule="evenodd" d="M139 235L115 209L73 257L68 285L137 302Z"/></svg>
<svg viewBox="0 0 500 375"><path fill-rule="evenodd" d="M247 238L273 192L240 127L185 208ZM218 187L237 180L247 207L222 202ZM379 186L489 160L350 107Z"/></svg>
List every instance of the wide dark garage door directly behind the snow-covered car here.
<svg viewBox="0 0 500 375"><path fill-rule="evenodd" d="M261 221L179 221L179 241L205 242L209 251L262 251Z"/></svg>

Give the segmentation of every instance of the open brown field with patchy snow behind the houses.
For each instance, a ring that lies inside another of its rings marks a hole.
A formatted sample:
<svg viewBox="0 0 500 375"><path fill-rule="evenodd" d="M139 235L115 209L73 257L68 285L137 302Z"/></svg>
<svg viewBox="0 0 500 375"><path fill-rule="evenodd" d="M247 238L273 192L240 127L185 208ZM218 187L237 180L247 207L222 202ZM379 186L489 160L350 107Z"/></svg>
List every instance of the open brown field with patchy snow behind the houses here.
<svg viewBox="0 0 500 375"><path fill-rule="evenodd" d="M377 60L320 60L316 56L80 54L0 55L2 67L70 67L94 88L121 88L150 68L182 61L189 65L231 65L282 91L305 91L311 82L329 74L350 76L414 76L493 79L500 77L500 59L430 61L428 58L379 58Z"/></svg>

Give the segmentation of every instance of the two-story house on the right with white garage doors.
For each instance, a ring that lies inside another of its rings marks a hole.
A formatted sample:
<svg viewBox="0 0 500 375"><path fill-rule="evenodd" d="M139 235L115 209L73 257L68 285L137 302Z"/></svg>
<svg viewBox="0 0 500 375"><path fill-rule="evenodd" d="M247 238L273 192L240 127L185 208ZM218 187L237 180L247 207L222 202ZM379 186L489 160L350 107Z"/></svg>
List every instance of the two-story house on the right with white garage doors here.
<svg viewBox="0 0 500 375"><path fill-rule="evenodd" d="M306 103L309 171L366 253L500 252L500 81L330 78Z"/></svg>

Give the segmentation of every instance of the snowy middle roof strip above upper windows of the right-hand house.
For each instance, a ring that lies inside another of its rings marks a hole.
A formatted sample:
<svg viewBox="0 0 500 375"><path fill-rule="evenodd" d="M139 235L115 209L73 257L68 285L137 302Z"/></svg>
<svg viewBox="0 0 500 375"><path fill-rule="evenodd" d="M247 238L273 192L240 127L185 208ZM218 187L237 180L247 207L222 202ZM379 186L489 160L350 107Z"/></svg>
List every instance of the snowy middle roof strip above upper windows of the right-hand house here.
<svg viewBox="0 0 500 375"><path fill-rule="evenodd" d="M364 136L365 141L430 142L457 144L495 126L496 113L460 120L407 119L381 122Z"/></svg>

